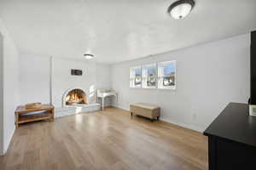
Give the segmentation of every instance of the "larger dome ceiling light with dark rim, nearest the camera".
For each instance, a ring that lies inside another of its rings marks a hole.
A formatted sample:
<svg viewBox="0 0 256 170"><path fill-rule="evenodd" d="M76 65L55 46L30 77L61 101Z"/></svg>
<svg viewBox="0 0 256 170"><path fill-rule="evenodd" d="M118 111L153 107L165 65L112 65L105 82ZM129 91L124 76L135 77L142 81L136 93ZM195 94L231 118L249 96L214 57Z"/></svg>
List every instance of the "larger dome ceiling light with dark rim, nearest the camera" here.
<svg viewBox="0 0 256 170"><path fill-rule="evenodd" d="M168 13L176 20L186 17L195 6L194 0L179 0L168 8Z"/></svg>

